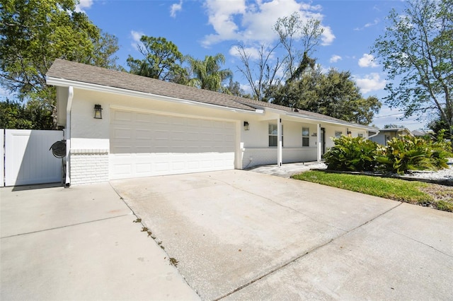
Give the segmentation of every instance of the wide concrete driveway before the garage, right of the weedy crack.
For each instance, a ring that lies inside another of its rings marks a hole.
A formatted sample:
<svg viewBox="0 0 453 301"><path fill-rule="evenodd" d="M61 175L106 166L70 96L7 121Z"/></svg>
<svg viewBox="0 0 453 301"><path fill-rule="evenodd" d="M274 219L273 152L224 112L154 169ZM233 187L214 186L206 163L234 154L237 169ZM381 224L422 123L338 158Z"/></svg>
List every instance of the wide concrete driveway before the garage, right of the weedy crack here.
<svg viewBox="0 0 453 301"><path fill-rule="evenodd" d="M242 170L111 184L202 299L452 298L452 213Z"/></svg>

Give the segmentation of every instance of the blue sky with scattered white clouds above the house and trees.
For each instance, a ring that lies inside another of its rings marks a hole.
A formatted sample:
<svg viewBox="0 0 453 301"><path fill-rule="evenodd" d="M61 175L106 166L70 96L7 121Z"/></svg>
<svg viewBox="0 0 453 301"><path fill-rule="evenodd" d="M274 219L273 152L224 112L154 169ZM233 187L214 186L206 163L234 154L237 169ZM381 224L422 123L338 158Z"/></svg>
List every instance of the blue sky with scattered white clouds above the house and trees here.
<svg viewBox="0 0 453 301"><path fill-rule="evenodd" d="M362 95L386 95L386 74L369 54L374 40L384 34L391 8L401 11L402 1L298 1L298 0L81 0L78 9L102 30L118 38L117 63L127 70L128 55L141 59L137 42L141 35L165 37L183 54L197 59L222 53L225 68L234 71L234 81L246 85L237 71L241 64L233 47L246 47L277 40L272 28L279 17L299 12L302 19L321 20L324 33L313 56L323 69L350 71ZM244 88L246 88L244 86ZM415 118L401 121L398 110L383 106L372 124L401 124L423 128Z"/></svg>

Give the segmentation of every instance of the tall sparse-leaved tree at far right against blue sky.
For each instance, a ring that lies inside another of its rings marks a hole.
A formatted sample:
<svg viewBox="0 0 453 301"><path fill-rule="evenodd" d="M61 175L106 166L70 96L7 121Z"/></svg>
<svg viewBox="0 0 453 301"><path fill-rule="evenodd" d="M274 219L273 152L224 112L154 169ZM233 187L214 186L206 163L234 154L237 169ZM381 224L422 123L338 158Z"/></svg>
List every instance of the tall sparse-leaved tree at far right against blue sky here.
<svg viewBox="0 0 453 301"><path fill-rule="evenodd" d="M453 0L409 0L392 10L372 53L387 71L385 102L405 117L435 112L453 131Z"/></svg>

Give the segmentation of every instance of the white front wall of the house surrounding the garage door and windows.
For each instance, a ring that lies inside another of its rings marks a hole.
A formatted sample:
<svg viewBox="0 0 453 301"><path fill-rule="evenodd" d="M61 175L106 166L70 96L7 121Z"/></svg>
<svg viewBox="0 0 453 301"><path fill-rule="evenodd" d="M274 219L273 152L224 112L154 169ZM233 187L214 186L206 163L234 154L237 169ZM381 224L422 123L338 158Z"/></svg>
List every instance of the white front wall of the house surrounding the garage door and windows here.
<svg viewBox="0 0 453 301"><path fill-rule="evenodd" d="M59 97L67 97L60 91ZM64 105L66 102L62 101ZM94 119L94 105L103 108L103 119ZM158 114L200 117L235 122L236 158L235 168L241 169L254 165L277 164L277 148L268 146L268 125L277 124L276 112L242 112L241 110L219 110L215 107L200 107L188 102L167 102L132 95L81 90L74 88L71 108L71 183L86 184L108 181L108 158L110 154L110 113L112 110L138 110ZM63 112L59 108L59 112ZM66 112L66 109L64 109ZM64 119L61 119L64 120ZM66 121L66 120L64 120ZM248 122L250 130L245 131L243 122ZM317 123L302 122L295 117L282 118L283 149L282 163L306 162L316 160ZM309 146L302 147L302 127L309 128ZM333 146L335 131L347 134L346 126L322 124L326 129L326 151ZM357 136L359 129L353 129ZM364 136L366 131L362 131ZM250 160L252 158L252 160ZM90 168L91 167L91 168Z"/></svg>

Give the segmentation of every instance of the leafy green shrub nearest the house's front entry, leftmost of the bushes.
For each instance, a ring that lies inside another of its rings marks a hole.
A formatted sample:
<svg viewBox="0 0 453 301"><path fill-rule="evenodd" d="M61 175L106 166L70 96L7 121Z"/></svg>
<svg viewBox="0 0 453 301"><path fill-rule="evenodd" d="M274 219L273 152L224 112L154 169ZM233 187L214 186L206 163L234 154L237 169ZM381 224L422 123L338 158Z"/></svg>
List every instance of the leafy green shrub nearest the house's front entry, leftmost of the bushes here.
<svg viewBox="0 0 453 301"><path fill-rule="evenodd" d="M333 146L324 155L330 170L372 171L377 143L362 137L340 136L333 138Z"/></svg>

